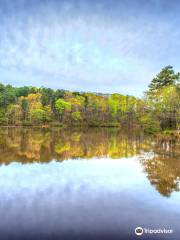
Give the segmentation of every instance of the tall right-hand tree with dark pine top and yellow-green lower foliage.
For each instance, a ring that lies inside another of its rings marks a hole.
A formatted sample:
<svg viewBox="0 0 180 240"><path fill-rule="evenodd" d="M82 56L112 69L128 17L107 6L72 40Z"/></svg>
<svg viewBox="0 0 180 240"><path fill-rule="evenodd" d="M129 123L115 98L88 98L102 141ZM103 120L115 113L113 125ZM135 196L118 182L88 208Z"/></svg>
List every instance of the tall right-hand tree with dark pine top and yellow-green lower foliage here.
<svg viewBox="0 0 180 240"><path fill-rule="evenodd" d="M161 129L178 129L180 123L180 73L167 66L152 80L146 94L148 116ZM147 124L148 125L148 124Z"/></svg>

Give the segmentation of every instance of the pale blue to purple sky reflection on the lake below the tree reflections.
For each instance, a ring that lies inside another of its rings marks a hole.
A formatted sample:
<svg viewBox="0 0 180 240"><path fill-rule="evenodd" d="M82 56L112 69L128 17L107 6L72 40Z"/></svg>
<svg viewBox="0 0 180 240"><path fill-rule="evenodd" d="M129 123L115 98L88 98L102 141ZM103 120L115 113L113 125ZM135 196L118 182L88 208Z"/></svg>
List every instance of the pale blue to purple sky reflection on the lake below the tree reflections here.
<svg viewBox="0 0 180 240"><path fill-rule="evenodd" d="M137 225L178 234L179 204L147 184L137 157L109 160L2 165L1 239L8 227L11 240L134 239Z"/></svg>

